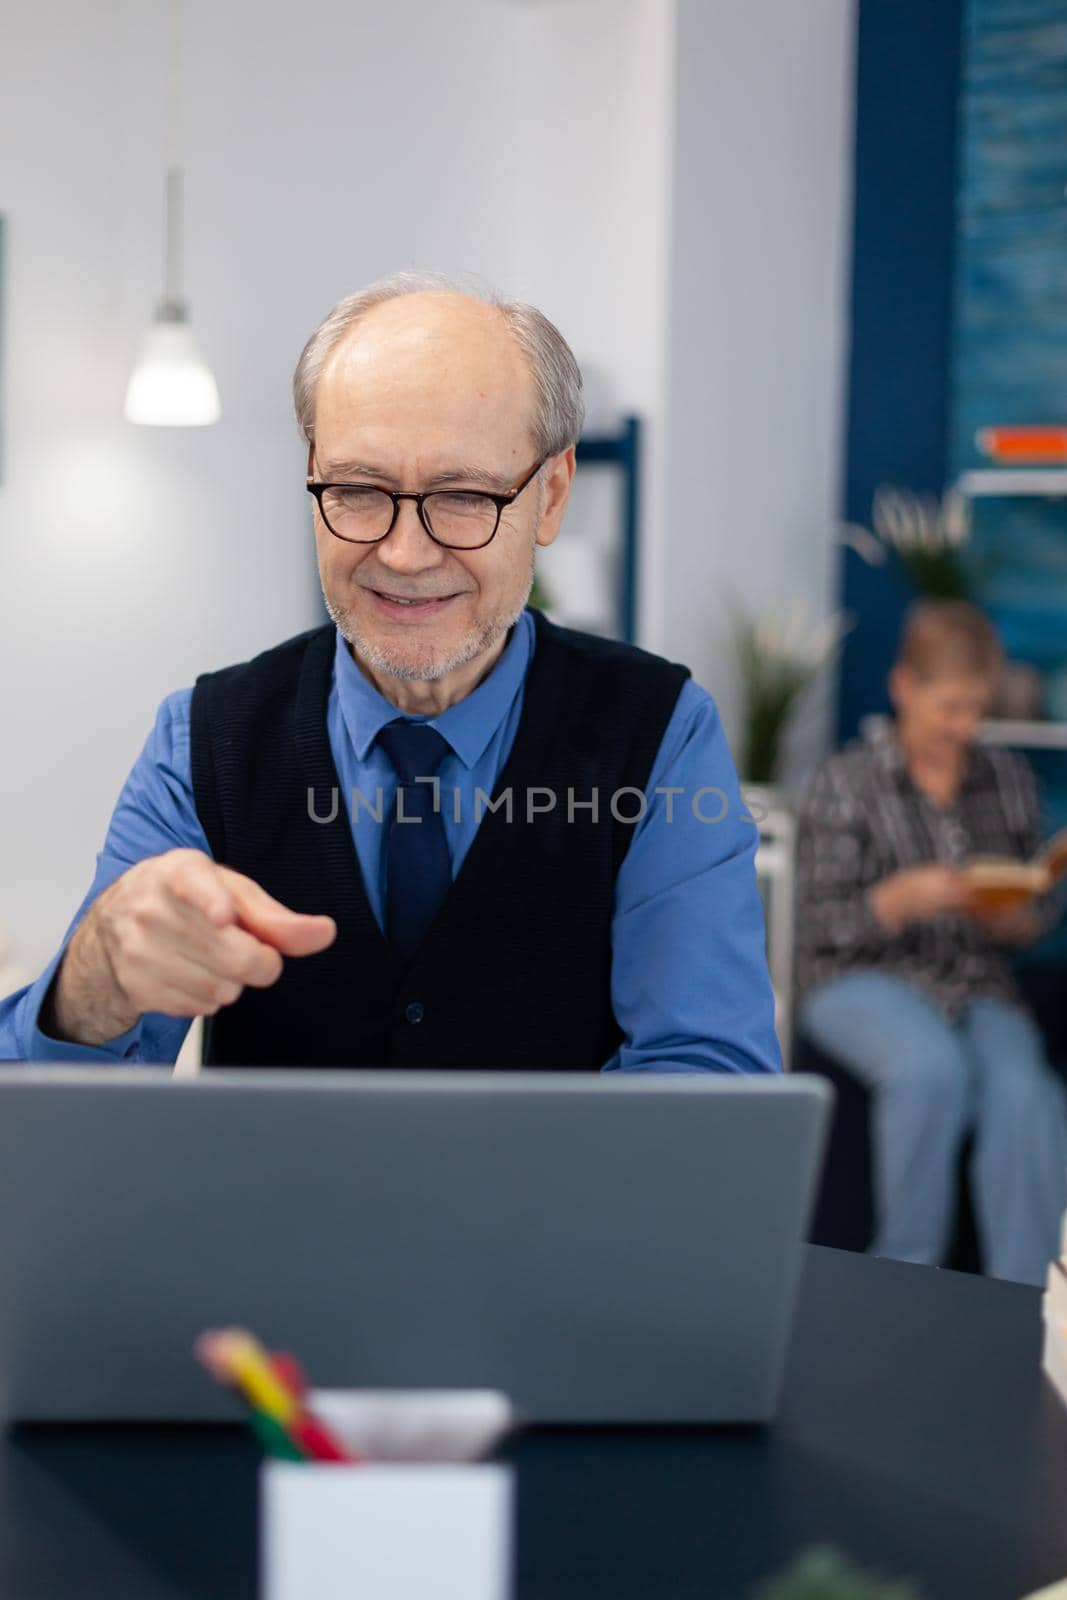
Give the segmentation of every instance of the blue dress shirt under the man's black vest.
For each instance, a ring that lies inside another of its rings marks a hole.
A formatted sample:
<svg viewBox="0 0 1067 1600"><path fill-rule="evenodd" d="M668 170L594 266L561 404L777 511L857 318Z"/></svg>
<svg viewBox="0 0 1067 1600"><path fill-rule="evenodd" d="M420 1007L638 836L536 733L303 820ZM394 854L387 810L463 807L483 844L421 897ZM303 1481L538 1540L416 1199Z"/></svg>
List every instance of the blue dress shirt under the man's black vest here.
<svg viewBox="0 0 1067 1600"><path fill-rule="evenodd" d="M477 792L493 794L510 752L533 650L533 618L523 613L488 677L429 718L450 746L438 778L453 878L480 821ZM208 853L192 794L190 702L192 690L181 690L160 706L64 949L93 899L128 867L165 850ZM368 899L382 926L384 837L397 776L374 741L395 717L397 707L363 675L338 634L326 728L339 803L352 818ZM661 741L646 798L616 878L611 1003L624 1042L605 1070L781 1070L753 870L757 827L741 800L715 702L691 680ZM62 949L37 982L0 1002L0 1059L174 1061L189 1022L162 1013L146 1014L99 1048L42 1034L40 1006L61 955Z"/></svg>

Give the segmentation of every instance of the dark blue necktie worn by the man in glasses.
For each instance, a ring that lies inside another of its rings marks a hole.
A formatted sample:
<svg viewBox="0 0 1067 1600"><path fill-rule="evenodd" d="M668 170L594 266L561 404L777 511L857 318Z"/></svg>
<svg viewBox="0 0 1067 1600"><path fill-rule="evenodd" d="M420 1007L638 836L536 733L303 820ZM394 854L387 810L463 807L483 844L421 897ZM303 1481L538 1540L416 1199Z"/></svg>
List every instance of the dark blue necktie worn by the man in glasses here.
<svg viewBox="0 0 1067 1600"><path fill-rule="evenodd" d="M450 746L424 722L390 722L378 742L400 779L386 843L386 933L406 958L422 944L453 882L445 819L434 810L438 786L416 782L435 776Z"/></svg>

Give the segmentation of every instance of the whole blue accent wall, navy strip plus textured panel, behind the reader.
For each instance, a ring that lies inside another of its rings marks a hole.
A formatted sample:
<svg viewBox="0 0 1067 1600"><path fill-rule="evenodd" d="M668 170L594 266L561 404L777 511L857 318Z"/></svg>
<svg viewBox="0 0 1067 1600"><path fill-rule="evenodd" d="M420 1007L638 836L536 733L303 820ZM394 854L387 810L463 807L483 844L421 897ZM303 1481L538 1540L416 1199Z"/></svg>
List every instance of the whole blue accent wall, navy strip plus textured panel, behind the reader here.
<svg viewBox="0 0 1067 1600"><path fill-rule="evenodd" d="M1067 0L861 0L851 314L849 522L869 526L878 483L989 466L981 427L1067 424ZM1067 501L976 501L974 554L1008 654L1067 718ZM841 590L848 739L886 707L910 595L851 550ZM1032 760L1046 829L1067 824L1067 757Z"/></svg>

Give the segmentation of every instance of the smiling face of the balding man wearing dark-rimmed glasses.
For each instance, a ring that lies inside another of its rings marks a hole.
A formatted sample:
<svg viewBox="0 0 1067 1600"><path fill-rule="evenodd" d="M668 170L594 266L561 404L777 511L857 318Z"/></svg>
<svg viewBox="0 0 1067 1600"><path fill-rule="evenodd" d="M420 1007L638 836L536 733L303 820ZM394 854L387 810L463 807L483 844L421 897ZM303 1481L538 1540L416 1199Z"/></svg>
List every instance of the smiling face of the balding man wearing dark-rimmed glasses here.
<svg viewBox="0 0 1067 1600"><path fill-rule="evenodd" d="M533 376L499 312L461 294L402 296L368 312L322 374L314 474L509 493L537 459L533 413ZM526 603L534 546L558 533L573 470L573 451L550 458L478 550L430 539L413 501L378 544L334 538L315 512L326 605L365 669L474 686Z"/></svg>

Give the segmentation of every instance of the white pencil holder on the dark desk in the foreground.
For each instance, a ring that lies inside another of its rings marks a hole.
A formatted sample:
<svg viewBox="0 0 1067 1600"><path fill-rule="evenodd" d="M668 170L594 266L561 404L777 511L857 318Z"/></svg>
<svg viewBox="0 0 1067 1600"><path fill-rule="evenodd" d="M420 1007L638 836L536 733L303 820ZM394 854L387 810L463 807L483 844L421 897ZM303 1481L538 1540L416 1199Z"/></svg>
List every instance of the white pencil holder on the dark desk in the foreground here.
<svg viewBox="0 0 1067 1600"><path fill-rule="evenodd" d="M512 1469L477 1459L510 1424L506 1397L315 1390L309 1400L365 1459L264 1464L262 1600L509 1600Z"/></svg>

